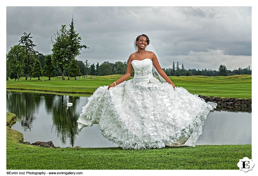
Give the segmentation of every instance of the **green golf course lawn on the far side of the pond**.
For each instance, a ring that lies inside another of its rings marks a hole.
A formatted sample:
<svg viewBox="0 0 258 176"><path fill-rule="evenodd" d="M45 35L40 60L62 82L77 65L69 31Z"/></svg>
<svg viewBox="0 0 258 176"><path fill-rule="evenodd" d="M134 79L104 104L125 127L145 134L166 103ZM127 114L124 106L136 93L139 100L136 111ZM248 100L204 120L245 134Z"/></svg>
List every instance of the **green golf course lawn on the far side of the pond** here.
<svg viewBox="0 0 258 176"><path fill-rule="evenodd" d="M66 80L62 80L62 77L54 77L51 78L51 81L48 81L47 77L41 77L41 80L32 78L32 80L27 81L24 77L21 77L19 81L6 81L6 88L92 94L99 86L109 85L121 76L122 75L90 76L96 77L95 79L79 77L78 80L74 80L74 78L67 80L67 77L65 78ZM176 86L184 87L192 94L214 97L252 98L251 75L234 75L227 77L173 76L169 78ZM132 77L129 79L132 79Z"/></svg>

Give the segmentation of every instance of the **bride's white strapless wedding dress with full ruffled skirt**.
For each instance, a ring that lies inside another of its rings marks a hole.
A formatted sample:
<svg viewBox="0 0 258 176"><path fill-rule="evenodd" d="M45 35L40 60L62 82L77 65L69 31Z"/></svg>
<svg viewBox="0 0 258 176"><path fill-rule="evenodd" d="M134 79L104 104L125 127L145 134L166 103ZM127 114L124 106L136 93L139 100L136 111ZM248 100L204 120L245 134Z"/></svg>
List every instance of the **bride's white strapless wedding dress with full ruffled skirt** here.
<svg viewBox="0 0 258 176"><path fill-rule="evenodd" d="M152 60L133 60L134 78L89 97L78 128L99 124L102 135L123 149L195 146L210 110L183 87L161 83L152 74Z"/></svg>

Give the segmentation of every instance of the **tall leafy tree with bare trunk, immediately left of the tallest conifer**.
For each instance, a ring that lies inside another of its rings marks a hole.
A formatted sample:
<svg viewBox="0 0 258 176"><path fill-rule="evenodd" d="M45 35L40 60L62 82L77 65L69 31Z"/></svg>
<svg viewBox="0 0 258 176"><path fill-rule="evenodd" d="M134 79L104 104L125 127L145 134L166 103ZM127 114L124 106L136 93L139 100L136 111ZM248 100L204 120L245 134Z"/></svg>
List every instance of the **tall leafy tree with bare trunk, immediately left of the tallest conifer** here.
<svg viewBox="0 0 258 176"><path fill-rule="evenodd" d="M54 66L61 69L62 80L64 79L64 69L69 66L69 56L70 52L68 50L69 40L67 36L67 29L65 25L61 26L61 29L54 36L51 36L51 42L53 44L52 48L52 61Z"/></svg>

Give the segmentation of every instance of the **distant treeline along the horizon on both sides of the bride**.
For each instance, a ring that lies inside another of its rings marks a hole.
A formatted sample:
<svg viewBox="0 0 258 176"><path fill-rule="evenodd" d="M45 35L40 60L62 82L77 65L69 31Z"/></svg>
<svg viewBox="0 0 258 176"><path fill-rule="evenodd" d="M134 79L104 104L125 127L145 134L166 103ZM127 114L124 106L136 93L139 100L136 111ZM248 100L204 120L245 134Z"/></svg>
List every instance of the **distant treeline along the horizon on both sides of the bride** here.
<svg viewBox="0 0 258 176"><path fill-rule="evenodd" d="M46 56L44 56L43 54L40 54L40 56L38 57L41 63L41 67L44 68L45 59ZM99 64L99 62L97 62L97 64L90 64L88 63L88 60L86 60L86 62L83 62L81 60L76 60L77 62L77 66L79 67L80 71L81 71L81 75L99 75L99 76L104 76L104 75L115 75L115 74L120 74L120 75L124 75L126 72L126 68L127 68L127 62L124 61L117 61L115 63L111 63L108 61L105 61L101 64ZM250 69L250 66L248 66L247 68L242 69L241 67L239 67L238 69L235 69L233 71L231 70L227 70L225 65L220 65L218 70L212 70L212 69L185 69L183 64L181 65L181 67L179 67L179 62L177 62L175 64L175 62L173 62L173 67L169 68L169 69L165 69L163 68L163 70L165 71L165 73L168 76L231 76L231 75L251 75L252 71ZM68 70L64 71L64 75L68 76ZM62 76L62 73L60 71L60 69L56 69L55 71L55 76ZM132 76L134 76L134 71L132 72Z"/></svg>

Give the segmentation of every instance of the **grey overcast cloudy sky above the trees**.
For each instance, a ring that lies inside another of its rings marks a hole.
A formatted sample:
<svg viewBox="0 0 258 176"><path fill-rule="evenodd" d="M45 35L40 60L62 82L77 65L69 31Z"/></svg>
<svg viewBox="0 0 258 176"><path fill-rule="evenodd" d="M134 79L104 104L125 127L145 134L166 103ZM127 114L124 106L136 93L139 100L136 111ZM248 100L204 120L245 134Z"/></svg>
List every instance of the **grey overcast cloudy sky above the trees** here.
<svg viewBox="0 0 258 176"><path fill-rule="evenodd" d="M72 17L89 47L77 56L83 62L127 61L146 34L162 68L252 68L252 7L6 7L6 53L26 32L35 50L51 54L51 36Z"/></svg>

